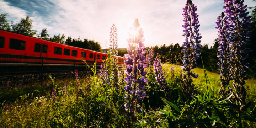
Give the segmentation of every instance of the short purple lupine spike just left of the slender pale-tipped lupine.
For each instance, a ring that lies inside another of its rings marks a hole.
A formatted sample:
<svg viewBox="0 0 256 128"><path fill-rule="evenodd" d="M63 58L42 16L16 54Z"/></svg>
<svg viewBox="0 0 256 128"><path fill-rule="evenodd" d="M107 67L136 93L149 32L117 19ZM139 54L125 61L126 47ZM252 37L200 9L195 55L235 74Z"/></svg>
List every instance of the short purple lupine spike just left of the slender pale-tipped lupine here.
<svg viewBox="0 0 256 128"><path fill-rule="evenodd" d="M103 86L106 86L110 84L109 79L108 79L108 70L107 70L107 65L106 62L103 61L103 63L100 66L100 80Z"/></svg>

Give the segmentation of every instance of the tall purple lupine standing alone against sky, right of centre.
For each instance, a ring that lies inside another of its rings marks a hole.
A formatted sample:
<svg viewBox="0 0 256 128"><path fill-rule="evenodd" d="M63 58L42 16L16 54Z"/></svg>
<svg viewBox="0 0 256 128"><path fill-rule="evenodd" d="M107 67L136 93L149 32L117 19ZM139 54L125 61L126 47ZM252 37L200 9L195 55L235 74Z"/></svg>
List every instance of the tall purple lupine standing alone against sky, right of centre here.
<svg viewBox="0 0 256 128"><path fill-rule="evenodd" d="M192 72L192 69L196 68L196 59L200 57L200 48L202 45L200 44L200 33L198 33L199 29L199 21L198 15L196 13L197 6L195 6L191 0L187 0L186 6L183 8L183 21L185 22L182 25L185 30L183 36L185 36L185 42L183 42L183 46L185 49L183 52L183 60L181 69L184 71L182 74L182 92L185 95L186 99L189 100L190 96L193 95L193 87L192 87L192 79L197 78L198 75Z"/></svg>

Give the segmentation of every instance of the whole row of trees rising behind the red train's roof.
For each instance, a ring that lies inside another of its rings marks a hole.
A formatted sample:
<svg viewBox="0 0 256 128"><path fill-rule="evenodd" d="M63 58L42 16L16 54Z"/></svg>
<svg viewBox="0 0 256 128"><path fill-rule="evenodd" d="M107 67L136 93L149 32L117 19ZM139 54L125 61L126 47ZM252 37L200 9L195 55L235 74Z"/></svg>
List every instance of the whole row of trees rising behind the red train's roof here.
<svg viewBox="0 0 256 128"><path fill-rule="evenodd" d="M10 23L7 21L7 18L6 18L7 15L8 15L7 13L0 15L0 29L2 30L23 34L27 36L32 36L32 37L36 36L37 38L45 39L52 42L58 42L58 43L63 43L70 46L102 52L100 44L94 40L89 40L89 39L81 40L80 38L72 39L71 37L66 38L64 34L60 34L60 33L54 34L53 37L50 37L50 35L47 33L47 28L43 28L39 34L36 34L37 31L34 30L32 26L33 20L29 16L26 16L26 18L21 18L21 20L17 23L11 22L11 25L10 25Z"/></svg>

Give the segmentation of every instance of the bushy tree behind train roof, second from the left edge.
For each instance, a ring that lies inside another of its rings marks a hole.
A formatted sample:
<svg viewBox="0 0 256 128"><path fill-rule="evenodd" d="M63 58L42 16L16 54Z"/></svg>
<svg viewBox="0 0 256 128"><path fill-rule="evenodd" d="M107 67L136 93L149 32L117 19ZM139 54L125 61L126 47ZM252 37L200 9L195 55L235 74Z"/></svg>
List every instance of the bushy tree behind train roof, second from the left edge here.
<svg viewBox="0 0 256 128"><path fill-rule="evenodd" d="M25 18L21 18L20 22L16 24L12 24L12 31L18 34L24 34L27 36L34 36L36 34L36 30L32 30L33 20L30 19L29 16Z"/></svg>

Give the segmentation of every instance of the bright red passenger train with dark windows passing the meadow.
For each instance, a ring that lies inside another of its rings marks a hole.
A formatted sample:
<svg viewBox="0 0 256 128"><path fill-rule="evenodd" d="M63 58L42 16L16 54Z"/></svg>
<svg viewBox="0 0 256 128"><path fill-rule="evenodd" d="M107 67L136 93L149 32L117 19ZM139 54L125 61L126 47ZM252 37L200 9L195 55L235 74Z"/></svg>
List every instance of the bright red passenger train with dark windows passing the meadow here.
<svg viewBox="0 0 256 128"><path fill-rule="evenodd" d="M43 59L42 59L43 58ZM100 65L107 54L0 30L0 64L69 66ZM118 56L118 64L124 64Z"/></svg>

